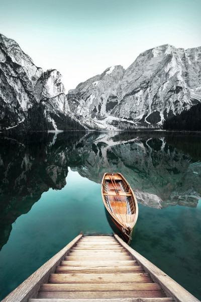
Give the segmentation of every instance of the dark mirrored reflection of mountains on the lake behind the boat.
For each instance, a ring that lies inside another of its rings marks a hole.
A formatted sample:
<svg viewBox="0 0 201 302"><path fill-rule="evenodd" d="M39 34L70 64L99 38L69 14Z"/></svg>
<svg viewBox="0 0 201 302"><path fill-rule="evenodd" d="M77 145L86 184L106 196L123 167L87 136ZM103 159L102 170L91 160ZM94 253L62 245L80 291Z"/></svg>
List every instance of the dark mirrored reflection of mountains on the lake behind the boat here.
<svg viewBox="0 0 201 302"><path fill-rule="evenodd" d="M0 150L0 249L12 223L49 188L66 184L68 167L100 183L120 172L149 207L196 207L201 196L200 137L164 132L63 132L5 136Z"/></svg>

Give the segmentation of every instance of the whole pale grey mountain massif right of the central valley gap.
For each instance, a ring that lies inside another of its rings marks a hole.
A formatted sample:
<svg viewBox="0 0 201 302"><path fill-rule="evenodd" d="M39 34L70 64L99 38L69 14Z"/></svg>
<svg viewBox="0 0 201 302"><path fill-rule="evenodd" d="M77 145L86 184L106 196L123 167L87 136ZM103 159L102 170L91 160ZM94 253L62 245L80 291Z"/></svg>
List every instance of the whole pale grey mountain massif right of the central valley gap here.
<svg viewBox="0 0 201 302"><path fill-rule="evenodd" d="M94 127L161 125L201 99L201 47L162 45L141 53L126 70L112 66L68 92L70 110Z"/></svg>

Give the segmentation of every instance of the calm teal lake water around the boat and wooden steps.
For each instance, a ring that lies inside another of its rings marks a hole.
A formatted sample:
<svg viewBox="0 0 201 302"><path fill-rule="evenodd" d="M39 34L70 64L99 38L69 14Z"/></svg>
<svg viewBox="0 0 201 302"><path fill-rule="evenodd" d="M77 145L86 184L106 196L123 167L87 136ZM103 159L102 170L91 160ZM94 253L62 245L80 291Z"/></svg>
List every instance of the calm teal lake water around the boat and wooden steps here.
<svg viewBox="0 0 201 302"><path fill-rule="evenodd" d="M0 136L0 299L81 231L117 232L105 172L136 192L131 246L201 299L201 139L164 132Z"/></svg>

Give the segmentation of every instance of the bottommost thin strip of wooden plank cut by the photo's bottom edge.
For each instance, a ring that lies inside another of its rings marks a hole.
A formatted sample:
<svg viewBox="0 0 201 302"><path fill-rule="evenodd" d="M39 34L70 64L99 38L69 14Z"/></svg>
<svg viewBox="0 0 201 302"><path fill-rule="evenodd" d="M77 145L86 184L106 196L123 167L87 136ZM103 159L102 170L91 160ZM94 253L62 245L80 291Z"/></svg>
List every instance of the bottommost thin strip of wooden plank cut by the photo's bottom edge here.
<svg viewBox="0 0 201 302"><path fill-rule="evenodd" d="M109 302L107 298L85 299L30 299L29 302ZM173 298L110 298L110 302L175 302Z"/></svg>

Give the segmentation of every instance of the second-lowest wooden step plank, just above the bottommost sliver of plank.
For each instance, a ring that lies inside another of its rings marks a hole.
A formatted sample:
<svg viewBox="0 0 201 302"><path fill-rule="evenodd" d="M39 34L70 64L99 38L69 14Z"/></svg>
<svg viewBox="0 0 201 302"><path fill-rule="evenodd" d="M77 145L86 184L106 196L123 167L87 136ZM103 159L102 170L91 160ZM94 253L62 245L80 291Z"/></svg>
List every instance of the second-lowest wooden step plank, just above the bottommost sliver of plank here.
<svg viewBox="0 0 201 302"><path fill-rule="evenodd" d="M39 298L124 298L164 297L160 290L148 291L39 291ZM141 301L140 301L141 302Z"/></svg>

